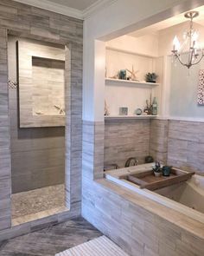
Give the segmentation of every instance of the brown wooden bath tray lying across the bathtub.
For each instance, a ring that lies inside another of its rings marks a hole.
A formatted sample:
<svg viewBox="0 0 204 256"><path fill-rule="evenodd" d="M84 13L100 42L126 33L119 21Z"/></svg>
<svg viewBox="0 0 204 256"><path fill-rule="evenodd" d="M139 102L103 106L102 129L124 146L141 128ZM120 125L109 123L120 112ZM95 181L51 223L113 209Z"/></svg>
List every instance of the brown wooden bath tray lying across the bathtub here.
<svg viewBox="0 0 204 256"><path fill-rule="evenodd" d="M153 191L182 181L188 181L192 175L194 175L193 172L185 172L173 167L170 176L161 175L156 177L154 172L150 170L139 174L127 175L126 179L137 184L140 188L147 188Z"/></svg>

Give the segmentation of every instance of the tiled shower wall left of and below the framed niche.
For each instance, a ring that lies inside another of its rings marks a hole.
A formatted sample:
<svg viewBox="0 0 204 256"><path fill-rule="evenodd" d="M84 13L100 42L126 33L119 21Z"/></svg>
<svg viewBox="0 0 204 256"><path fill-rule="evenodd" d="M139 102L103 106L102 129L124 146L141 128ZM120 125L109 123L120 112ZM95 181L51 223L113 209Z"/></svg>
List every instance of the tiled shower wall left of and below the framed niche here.
<svg viewBox="0 0 204 256"><path fill-rule="evenodd" d="M8 38L9 80L15 82L18 39ZM65 128L19 128L16 86L9 86L9 102L12 194L64 183Z"/></svg>

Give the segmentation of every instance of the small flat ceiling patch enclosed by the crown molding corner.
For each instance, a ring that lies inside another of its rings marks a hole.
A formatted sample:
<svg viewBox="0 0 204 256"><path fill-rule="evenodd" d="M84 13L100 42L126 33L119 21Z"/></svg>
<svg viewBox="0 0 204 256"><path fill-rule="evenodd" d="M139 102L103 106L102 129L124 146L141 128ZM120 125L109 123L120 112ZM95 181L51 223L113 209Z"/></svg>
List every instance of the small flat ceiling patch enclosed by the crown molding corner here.
<svg viewBox="0 0 204 256"><path fill-rule="evenodd" d="M48 0L48 2L61 4L77 10L86 10L93 3L97 3L98 0Z"/></svg>

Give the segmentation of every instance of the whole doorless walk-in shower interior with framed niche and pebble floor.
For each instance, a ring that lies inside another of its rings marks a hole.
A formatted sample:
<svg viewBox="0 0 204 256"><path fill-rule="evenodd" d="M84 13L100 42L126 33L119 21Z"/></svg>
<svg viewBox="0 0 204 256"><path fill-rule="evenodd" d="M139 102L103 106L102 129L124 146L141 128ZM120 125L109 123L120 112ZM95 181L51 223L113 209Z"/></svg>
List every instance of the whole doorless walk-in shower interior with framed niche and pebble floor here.
<svg viewBox="0 0 204 256"><path fill-rule="evenodd" d="M65 207L65 49L9 36L12 224Z"/></svg>

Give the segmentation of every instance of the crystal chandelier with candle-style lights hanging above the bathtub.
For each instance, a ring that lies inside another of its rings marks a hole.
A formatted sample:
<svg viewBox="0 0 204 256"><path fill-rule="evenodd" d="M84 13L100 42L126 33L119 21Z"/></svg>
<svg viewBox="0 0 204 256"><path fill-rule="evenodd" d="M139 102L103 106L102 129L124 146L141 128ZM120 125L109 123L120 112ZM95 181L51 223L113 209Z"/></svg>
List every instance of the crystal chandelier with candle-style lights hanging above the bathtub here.
<svg viewBox="0 0 204 256"><path fill-rule="evenodd" d="M177 36L175 36L173 41L173 49L171 50L173 56L175 56L175 60L178 60L183 66L190 69L191 66L198 64L201 62L202 57L204 56L203 49L199 49L198 47L198 32L194 30L193 19L196 16L199 16L198 11L189 11L184 15L186 18L190 19L189 30L183 34L184 42L179 42ZM186 47L188 47L187 51ZM187 62L182 61L181 54L187 53L188 60Z"/></svg>

